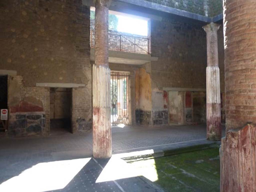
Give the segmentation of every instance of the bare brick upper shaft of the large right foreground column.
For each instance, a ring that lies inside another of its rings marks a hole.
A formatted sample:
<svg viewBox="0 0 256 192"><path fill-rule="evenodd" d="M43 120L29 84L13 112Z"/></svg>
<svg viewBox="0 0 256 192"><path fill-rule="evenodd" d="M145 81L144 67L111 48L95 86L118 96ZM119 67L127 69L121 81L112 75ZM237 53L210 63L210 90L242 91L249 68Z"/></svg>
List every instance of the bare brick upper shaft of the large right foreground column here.
<svg viewBox="0 0 256 192"><path fill-rule="evenodd" d="M254 1L224 1L226 130L256 122Z"/></svg>

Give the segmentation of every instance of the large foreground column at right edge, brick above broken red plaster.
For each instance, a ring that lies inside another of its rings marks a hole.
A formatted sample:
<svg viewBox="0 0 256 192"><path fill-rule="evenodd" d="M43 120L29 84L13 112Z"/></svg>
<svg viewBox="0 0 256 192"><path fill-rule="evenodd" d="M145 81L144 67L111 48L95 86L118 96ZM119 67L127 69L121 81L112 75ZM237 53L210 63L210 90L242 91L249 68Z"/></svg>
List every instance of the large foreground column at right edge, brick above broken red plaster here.
<svg viewBox="0 0 256 192"><path fill-rule="evenodd" d="M226 138L221 191L256 191L256 1L224 0Z"/></svg>

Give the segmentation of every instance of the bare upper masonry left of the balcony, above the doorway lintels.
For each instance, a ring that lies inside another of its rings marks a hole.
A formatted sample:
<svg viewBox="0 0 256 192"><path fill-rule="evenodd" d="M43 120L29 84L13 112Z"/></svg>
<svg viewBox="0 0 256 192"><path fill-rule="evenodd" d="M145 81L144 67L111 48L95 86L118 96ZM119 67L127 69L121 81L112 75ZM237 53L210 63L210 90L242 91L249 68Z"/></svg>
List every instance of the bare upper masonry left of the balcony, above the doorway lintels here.
<svg viewBox="0 0 256 192"><path fill-rule="evenodd" d="M89 81L90 11L82 1L3 0L0 16L0 69L17 70L25 86Z"/></svg>

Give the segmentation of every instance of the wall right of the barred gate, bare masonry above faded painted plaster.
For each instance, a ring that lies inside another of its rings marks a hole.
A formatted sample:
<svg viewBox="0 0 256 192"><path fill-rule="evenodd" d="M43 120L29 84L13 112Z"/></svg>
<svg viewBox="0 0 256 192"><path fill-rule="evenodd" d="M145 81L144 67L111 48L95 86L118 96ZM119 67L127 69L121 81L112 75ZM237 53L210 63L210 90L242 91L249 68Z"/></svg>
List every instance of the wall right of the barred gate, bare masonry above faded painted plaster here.
<svg viewBox="0 0 256 192"><path fill-rule="evenodd" d="M148 110L151 110L153 121L151 124L167 124L168 121L165 118L170 120L170 116L166 114L168 110L164 88L206 89L206 33L200 25L165 17L161 22L152 20L151 26L152 56L158 57L158 60L147 63L136 73L140 77L138 86L140 94L136 101L139 102L142 124L149 124L146 119L149 119L150 112L145 112L146 110L143 109L145 106L149 106ZM221 92L224 92L223 26L218 31L218 51L220 86ZM145 77L148 77L147 81L143 79ZM151 96L150 99L145 97L147 93L143 90L145 87L149 87L147 91L151 91L151 95L148 94ZM189 98L191 106L185 107L184 114L175 121L191 124L195 116L198 123L204 122L206 113L202 102L204 97L191 94ZM193 109L193 99L198 104L195 109ZM195 115L193 115L194 112ZM185 118L184 121L180 120L183 118Z"/></svg>

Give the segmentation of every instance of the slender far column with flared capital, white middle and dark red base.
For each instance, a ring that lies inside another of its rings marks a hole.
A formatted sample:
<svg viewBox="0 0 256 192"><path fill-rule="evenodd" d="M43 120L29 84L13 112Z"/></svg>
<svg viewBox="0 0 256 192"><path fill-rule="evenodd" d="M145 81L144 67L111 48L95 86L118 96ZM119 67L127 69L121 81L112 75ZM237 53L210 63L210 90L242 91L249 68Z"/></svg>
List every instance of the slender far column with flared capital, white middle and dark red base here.
<svg viewBox="0 0 256 192"><path fill-rule="evenodd" d="M207 37L207 67L206 67L206 120L207 139L220 141L220 69L218 57L217 31L220 25L210 23L204 26Z"/></svg>

